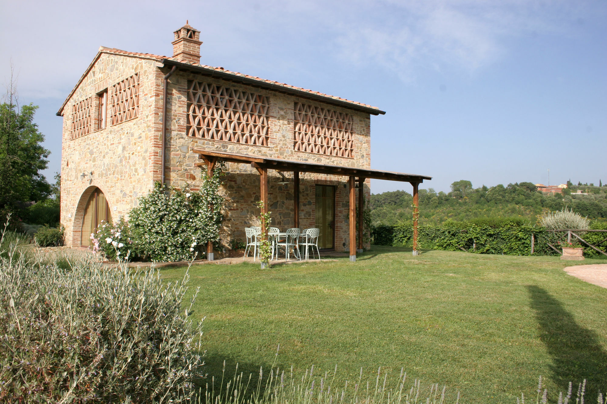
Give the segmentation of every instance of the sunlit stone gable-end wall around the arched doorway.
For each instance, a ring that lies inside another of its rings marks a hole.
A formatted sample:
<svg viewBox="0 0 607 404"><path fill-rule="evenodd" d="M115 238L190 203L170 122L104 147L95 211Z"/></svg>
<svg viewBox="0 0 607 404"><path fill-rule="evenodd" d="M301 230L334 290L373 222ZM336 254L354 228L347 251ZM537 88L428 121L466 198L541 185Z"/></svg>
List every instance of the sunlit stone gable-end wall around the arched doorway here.
<svg viewBox="0 0 607 404"><path fill-rule="evenodd" d="M105 129L96 130L95 125L92 133L72 139L73 104L111 89L134 73L139 75L137 118L113 126L108 119ZM82 214L94 187L103 191L112 217L118 218L134 207L137 197L148 192L154 179L159 178L158 74L154 60L101 53L64 107L61 223L66 227L66 245L80 245ZM82 173L86 175L82 177Z"/></svg>

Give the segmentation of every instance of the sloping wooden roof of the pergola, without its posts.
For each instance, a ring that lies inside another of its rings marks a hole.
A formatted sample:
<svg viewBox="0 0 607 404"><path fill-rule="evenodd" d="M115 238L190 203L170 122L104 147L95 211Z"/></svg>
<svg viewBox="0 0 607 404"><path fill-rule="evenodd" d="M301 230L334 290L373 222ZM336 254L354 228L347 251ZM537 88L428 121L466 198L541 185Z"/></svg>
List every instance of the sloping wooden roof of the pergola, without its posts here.
<svg viewBox="0 0 607 404"><path fill-rule="evenodd" d="M214 150L193 149L192 152L202 157L219 158L230 163L249 163L253 167L273 169L277 171L312 172L328 175L342 175L346 177L365 177L377 180L404 181L409 183L422 183L432 180L427 175L409 174L392 171L361 169L360 167L333 166L329 164L308 163L307 161L284 160L248 154L217 152ZM202 158L201 157L201 158ZM201 166L204 163L197 163Z"/></svg>

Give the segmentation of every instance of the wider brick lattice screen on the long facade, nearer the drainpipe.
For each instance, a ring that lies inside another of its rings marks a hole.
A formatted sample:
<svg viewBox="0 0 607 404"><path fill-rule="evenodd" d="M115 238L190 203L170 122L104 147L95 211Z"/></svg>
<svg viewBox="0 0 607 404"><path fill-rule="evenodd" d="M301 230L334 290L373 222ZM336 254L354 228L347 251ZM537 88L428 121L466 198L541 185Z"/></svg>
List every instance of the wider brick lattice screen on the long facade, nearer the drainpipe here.
<svg viewBox="0 0 607 404"><path fill-rule="evenodd" d="M189 81L187 130L197 138L268 146L268 97Z"/></svg>

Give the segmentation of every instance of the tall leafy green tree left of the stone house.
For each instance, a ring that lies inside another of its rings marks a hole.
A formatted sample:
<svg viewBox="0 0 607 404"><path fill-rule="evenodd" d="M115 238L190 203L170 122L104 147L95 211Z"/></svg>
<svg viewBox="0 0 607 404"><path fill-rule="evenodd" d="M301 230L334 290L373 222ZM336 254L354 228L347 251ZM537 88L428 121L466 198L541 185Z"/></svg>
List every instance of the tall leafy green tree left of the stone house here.
<svg viewBox="0 0 607 404"><path fill-rule="evenodd" d="M46 199L50 185L40 170L47 167L49 150L33 122L37 106L19 109L13 81L0 104L0 210L18 210L23 203Z"/></svg>

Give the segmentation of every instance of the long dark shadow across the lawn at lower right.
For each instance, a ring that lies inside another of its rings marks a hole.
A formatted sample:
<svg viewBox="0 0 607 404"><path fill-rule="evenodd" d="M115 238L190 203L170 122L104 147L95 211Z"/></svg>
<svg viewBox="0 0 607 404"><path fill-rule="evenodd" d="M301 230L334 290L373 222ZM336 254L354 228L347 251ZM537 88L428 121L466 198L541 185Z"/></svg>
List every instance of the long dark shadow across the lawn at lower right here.
<svg viewBox="0 0 607 404"><path fill-rule="evenodd" d="M531 308L540 326L540 340L552 357L552 379L558 388L567 391L569 382L588 380L586 396L595 400L607 387L607 352L594 331L575 322L560 301L538 286L527 286Z"/></svg>

